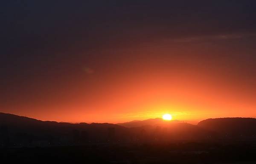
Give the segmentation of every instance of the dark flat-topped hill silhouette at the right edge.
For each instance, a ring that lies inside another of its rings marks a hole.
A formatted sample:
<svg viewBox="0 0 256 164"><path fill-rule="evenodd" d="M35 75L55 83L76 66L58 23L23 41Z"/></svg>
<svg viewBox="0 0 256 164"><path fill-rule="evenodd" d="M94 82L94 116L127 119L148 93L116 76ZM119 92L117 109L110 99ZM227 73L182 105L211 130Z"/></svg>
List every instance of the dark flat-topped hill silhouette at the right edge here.
<svg viewBox="0 0 256 164"><path fill-rule="evenodd" d="M198 126L215 131L225 138L256 138L256 119L253 118L206 119L199 122Z"/></svg>

